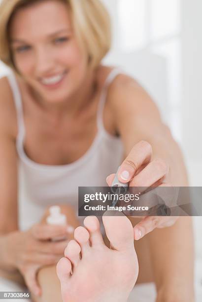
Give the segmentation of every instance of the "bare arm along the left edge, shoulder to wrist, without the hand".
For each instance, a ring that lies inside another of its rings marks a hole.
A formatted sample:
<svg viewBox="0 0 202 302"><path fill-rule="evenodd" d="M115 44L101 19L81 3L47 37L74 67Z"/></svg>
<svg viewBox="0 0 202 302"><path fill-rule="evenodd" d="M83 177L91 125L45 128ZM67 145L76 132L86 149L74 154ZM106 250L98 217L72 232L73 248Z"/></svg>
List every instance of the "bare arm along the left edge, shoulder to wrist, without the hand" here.
<svg viewBox="0 0 202 302"><path fill-rule="evenodd" d="M0 268L12 269L6 257L7 234L18 229L16 118L5 78L0 80Z"/></svg>

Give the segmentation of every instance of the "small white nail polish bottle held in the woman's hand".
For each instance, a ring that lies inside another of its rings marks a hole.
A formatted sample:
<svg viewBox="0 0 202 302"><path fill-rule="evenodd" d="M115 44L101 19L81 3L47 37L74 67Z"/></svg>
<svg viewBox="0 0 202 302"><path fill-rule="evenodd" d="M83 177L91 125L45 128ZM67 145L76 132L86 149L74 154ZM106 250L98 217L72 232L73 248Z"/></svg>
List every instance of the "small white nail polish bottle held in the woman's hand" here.
<svg viewBox="0 0 202 302"><path fill-rule="evenodd" d="M61 213L60 206L52 206L49 209L50 215L46 218L46 222L48 225L58 225L63 226L67 225L67 217L65 214ZM65 240L67 237L56 237L53 238L52 241Z"/></svg>

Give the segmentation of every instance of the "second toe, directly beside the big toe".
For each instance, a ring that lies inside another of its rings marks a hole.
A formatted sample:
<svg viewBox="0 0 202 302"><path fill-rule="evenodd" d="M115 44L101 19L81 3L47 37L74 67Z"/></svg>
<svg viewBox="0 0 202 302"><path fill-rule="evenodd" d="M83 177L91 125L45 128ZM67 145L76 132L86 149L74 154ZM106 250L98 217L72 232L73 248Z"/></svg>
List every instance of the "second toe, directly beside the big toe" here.
<svg viewBox="0 0 202 302"><path fill-rule="evenodd" d="M103 238L100 230L100 223L96 216L88 216L84 220L84 226L90 233L91 246L103 245Z"/></svg>

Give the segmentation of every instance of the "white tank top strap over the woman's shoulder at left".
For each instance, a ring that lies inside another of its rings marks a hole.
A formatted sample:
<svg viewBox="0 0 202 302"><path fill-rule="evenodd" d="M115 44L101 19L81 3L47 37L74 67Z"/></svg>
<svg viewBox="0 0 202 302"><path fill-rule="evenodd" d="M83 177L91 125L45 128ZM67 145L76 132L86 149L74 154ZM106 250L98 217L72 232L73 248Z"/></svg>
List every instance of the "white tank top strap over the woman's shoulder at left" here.
<svg viewBox="0 0 202 302"><path fill-rule="evenodd" d="M18 136L17 136L17 143L23 144L24 135L25 135L25 126L24 126L24 117L23 117L23 105L22 105L22 98L20 89L17 84L16 77L13 72L7 75L10 88L13 94L13 100L16 108L17 113L17 123L18 123Z"/></svg>

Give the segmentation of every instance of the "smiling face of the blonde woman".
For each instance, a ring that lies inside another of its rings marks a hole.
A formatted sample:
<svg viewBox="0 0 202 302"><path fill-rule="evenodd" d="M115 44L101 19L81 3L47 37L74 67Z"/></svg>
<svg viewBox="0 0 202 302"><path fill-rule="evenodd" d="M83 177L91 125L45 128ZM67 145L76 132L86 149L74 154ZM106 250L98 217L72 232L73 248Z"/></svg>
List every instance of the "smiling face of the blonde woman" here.
<svg viewBox="0 0 202 302"><path fill-rule="evenodd" d="M10 25L10 40L16 69L44 100L64 101L82 86L87 54L79 47L62 1L19 9Z"/></svg>

